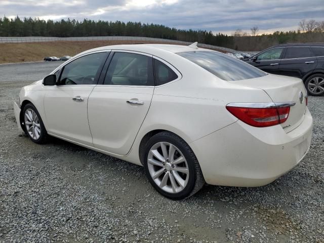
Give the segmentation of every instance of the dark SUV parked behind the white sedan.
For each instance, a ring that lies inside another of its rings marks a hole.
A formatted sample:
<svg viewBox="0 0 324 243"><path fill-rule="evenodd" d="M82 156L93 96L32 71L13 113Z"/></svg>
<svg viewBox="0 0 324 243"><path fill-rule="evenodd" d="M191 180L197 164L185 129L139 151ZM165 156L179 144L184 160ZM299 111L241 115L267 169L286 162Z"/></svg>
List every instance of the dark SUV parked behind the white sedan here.
<svg viewBox="0 0 324 243"><path fill-rule="evenodd" d="M246 60L266 72L299 77L308 94L324 94L324 44L283 44L270 47Z"/></svg>

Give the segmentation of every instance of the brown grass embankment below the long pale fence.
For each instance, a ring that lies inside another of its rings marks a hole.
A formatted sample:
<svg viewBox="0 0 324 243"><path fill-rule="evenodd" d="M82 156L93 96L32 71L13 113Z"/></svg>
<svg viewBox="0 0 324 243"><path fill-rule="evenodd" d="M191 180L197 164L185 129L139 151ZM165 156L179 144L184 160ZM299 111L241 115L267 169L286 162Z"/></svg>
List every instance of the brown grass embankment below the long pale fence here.
<svg viewBox="0 0 324 243"><path fill-rule="evenodd" d="M0 63L43 61L48 56L74 56L80 52L109 45L134 44L136 41L34 42L0 44ZM164 42L140 42L170 44Z"/></svg>

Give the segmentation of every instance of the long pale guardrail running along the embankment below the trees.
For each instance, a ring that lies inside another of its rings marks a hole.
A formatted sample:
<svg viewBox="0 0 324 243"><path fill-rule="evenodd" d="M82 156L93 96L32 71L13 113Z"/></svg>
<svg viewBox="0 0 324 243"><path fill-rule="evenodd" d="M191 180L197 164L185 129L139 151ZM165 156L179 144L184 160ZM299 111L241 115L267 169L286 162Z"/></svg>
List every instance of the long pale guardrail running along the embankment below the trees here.
<svg viewBox="0 0 324 243"><path fill-rule="evenodd" d="M89 36L89 37L42 37L42 36L29 36L29 37L0 37L0 43L26 43L26 42L59 42L59 41L154 41L154 42L167 42L173 44L190 45L191 42L176 41L174 39L162 39L151 37L138 37L138 36ZM226 47L218 47L213 45L198 43L198 47L222 50L225 52L243 52L235 51ZM258 52L249 52L258 53Z"/></svg>

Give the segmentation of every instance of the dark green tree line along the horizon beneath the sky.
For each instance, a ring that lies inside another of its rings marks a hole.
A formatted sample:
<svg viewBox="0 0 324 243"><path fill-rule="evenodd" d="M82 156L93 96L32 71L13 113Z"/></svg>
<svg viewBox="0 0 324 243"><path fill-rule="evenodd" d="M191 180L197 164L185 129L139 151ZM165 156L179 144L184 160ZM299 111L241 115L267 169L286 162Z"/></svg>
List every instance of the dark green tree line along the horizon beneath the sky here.
<svg viewBox="0 0 324 243"><path fill-rule="evenodd" d="M141 22L78 20L42 20L23 18L0 18L0 36L142 36L175 39L227 47L240 51L261 51L277 44L324 42L324 21L301 20L296 31L275 31L258 34L259 27L253 26L251 34L236 29L232 35L214 34L206 30L183 30L159 24Z"/></svg>

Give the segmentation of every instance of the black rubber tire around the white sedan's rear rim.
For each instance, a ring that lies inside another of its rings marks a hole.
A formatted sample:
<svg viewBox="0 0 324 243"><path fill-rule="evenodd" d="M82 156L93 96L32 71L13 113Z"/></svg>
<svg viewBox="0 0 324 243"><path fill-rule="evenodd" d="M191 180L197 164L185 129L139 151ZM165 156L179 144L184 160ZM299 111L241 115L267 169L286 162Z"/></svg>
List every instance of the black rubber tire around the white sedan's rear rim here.
<svg viewBox="0 0 324 243"><path fill-rule="evenodd" d="M185 189L179 193L169 193L169 192L166 192L163 189L159 188L158 185L156 185L155 182L153 181L153 179L148 171L147 157L148 157L149 150L154 144L156 144L158 142L172 143L181 151L181 153L184 155L185 159L187 160L188 170L189 170L189 180L188 180L188 183L187 183ZM196 175L195 175L195 166L194 166L194 160L192 158L192 155L191 155L190 151L188 151L188 148L183 144L183 142L179 141L178 139L175 139L171 135L168 136L168 135L157 134L157 135L154 135L151 139L149 139L149 141L146 143L146 146L145 146L143 164L144 164L144 168L145 168L146 177L148 178L151 185L160 194L162 194L170 199L179 200L179 199L183 199L183 198L189 196L195 186Z"/></svg>

